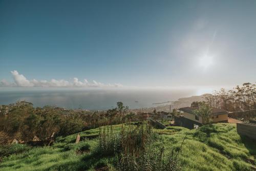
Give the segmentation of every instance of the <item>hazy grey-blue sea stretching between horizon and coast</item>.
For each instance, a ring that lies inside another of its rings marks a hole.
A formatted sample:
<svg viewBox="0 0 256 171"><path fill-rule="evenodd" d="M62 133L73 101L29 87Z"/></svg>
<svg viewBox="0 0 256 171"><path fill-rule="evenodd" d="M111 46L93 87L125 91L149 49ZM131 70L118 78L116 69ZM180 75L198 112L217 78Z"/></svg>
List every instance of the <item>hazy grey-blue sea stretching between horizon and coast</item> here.
<svg viewBox="0 0 256 171"><path fill-rule="evenodd" d="M40 107L53 105L66 109L107 110L116 106L117 101L122 101L130 109L138 109L160 105L153 103L175 101L182 97L211 91L211 89L0 88L0 104L26 100Z"/></svg>

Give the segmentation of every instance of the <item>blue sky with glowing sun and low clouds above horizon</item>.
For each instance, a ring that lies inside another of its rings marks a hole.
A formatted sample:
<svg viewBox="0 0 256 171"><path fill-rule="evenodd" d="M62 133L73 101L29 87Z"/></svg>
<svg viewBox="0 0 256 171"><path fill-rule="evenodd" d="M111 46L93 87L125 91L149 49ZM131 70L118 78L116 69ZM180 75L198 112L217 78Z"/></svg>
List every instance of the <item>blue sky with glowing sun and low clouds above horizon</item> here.
<svg viewBox="0 0 256 171"><path fill-rule="evenodd" d="M255 30L253 0L0 0L0 86L254 83Z"/></svg>

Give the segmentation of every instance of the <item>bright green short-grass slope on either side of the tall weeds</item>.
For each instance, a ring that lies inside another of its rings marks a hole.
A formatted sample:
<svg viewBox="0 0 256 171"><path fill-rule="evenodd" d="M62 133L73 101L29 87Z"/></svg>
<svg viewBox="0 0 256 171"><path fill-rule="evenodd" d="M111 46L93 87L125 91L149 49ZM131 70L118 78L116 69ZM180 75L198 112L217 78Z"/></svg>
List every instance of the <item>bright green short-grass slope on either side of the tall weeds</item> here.
<svg viewBox="0 0 256 171"><path fill-rule="evenodd" d="M113 126L120 131L120 125ZM184 137L180 165L182 170L250 170L256 164L256 143L241 138L234 124L212 124L197 130L166 127L155 130L165 151L178 150ZM115 158L95 153L99 129L58 137L53 146L29 147L16 144L1 147L1 170L114 170ZM6 157L7 156L7 157Z"/></svg>

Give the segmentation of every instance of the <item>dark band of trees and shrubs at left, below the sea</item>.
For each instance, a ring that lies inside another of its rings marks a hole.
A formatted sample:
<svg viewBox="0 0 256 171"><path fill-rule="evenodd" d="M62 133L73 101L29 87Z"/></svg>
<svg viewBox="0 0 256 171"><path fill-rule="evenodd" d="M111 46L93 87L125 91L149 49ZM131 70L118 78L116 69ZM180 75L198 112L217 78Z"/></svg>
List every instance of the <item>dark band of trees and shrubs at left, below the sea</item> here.
<svg viewBox="0 0 256 171"><path fill-rule="evenodd" d="M137 118L127 106L117 102L117 108L108 111L66 110L53 106L34 108L32 103L17 102L2 105L8 113L0 114L0 144L12 139L31 141L36 135L43 139L53 133L70 135L105 124L119 124Z"/></svg>

